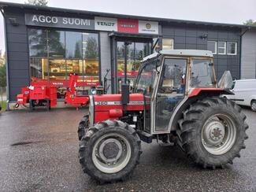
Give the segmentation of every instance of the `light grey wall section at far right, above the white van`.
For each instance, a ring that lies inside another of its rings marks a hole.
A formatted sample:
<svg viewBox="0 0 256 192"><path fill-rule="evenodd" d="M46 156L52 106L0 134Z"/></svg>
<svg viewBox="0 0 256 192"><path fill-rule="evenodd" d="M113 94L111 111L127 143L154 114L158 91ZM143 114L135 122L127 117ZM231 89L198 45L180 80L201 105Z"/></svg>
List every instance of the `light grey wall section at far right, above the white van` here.
<svg viewBox="0 0 256 192"><path fill-rule="evenodd" d="M256 79L256 30L242 37L241 79Z"/></svg>

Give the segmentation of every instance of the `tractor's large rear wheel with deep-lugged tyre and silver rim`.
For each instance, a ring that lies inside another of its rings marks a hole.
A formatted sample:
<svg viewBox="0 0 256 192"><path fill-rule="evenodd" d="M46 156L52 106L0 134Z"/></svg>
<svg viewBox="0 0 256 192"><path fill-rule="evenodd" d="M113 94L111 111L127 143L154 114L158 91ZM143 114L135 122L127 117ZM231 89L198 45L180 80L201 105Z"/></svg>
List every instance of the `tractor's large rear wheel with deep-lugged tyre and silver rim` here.
<svg viewBox="0 0 256 192"><path fill-rule="evenodd" d="M204 168L232 164L248 138L246 116L226 98L204 98L184 112L180 138L187 156Z"/></svg>

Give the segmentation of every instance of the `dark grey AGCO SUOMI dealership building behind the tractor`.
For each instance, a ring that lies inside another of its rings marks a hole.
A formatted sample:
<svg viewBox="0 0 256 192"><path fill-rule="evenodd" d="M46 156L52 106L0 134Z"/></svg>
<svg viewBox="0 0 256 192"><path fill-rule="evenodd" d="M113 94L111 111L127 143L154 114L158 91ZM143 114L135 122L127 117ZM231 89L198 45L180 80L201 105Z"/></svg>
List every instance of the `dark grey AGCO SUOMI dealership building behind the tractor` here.
<svg viewBox="0 0 256 192"><path fill-rule="evenodd" d="M32 80L46 80L64 98L70 73L84 90L104 76L109 93L124 78L124 42L132 83L143 57L160 49L211 50L220 78L255 79L256 30L239 24L137 17L0 2L5 19L9 102ZM109 71L109 72L108 72Z"/></svg>

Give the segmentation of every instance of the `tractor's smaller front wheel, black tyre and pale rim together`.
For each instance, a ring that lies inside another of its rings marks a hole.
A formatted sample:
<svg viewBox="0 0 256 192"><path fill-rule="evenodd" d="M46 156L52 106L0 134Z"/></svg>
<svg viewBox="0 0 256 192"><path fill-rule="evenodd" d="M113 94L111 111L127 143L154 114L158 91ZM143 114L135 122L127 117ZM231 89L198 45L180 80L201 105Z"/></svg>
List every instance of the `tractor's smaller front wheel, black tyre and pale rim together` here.
<svg viewBox="0 0 256 192"><path fill-rule="evenodd" d="M101 183L126 179L139 164L141 153L139 136L120 120L95 124L80 141L83 172Z"/></svg>

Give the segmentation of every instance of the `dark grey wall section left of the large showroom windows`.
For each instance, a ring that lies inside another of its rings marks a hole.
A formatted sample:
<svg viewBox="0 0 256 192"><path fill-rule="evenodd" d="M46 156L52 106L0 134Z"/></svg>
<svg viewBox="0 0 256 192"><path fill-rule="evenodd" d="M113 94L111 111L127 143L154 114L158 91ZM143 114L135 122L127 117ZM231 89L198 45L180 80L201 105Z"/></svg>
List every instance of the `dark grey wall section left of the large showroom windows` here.
<svg viewBox="0 0 256 192"><path fill-rule="evenodd" d="M27 28L24 13L20 9L5 10L6 52L9 73L9 100L16 101L20 87L29 85L29 61ZM9 18L16 18L18 26L13 26Z"/></svg>

